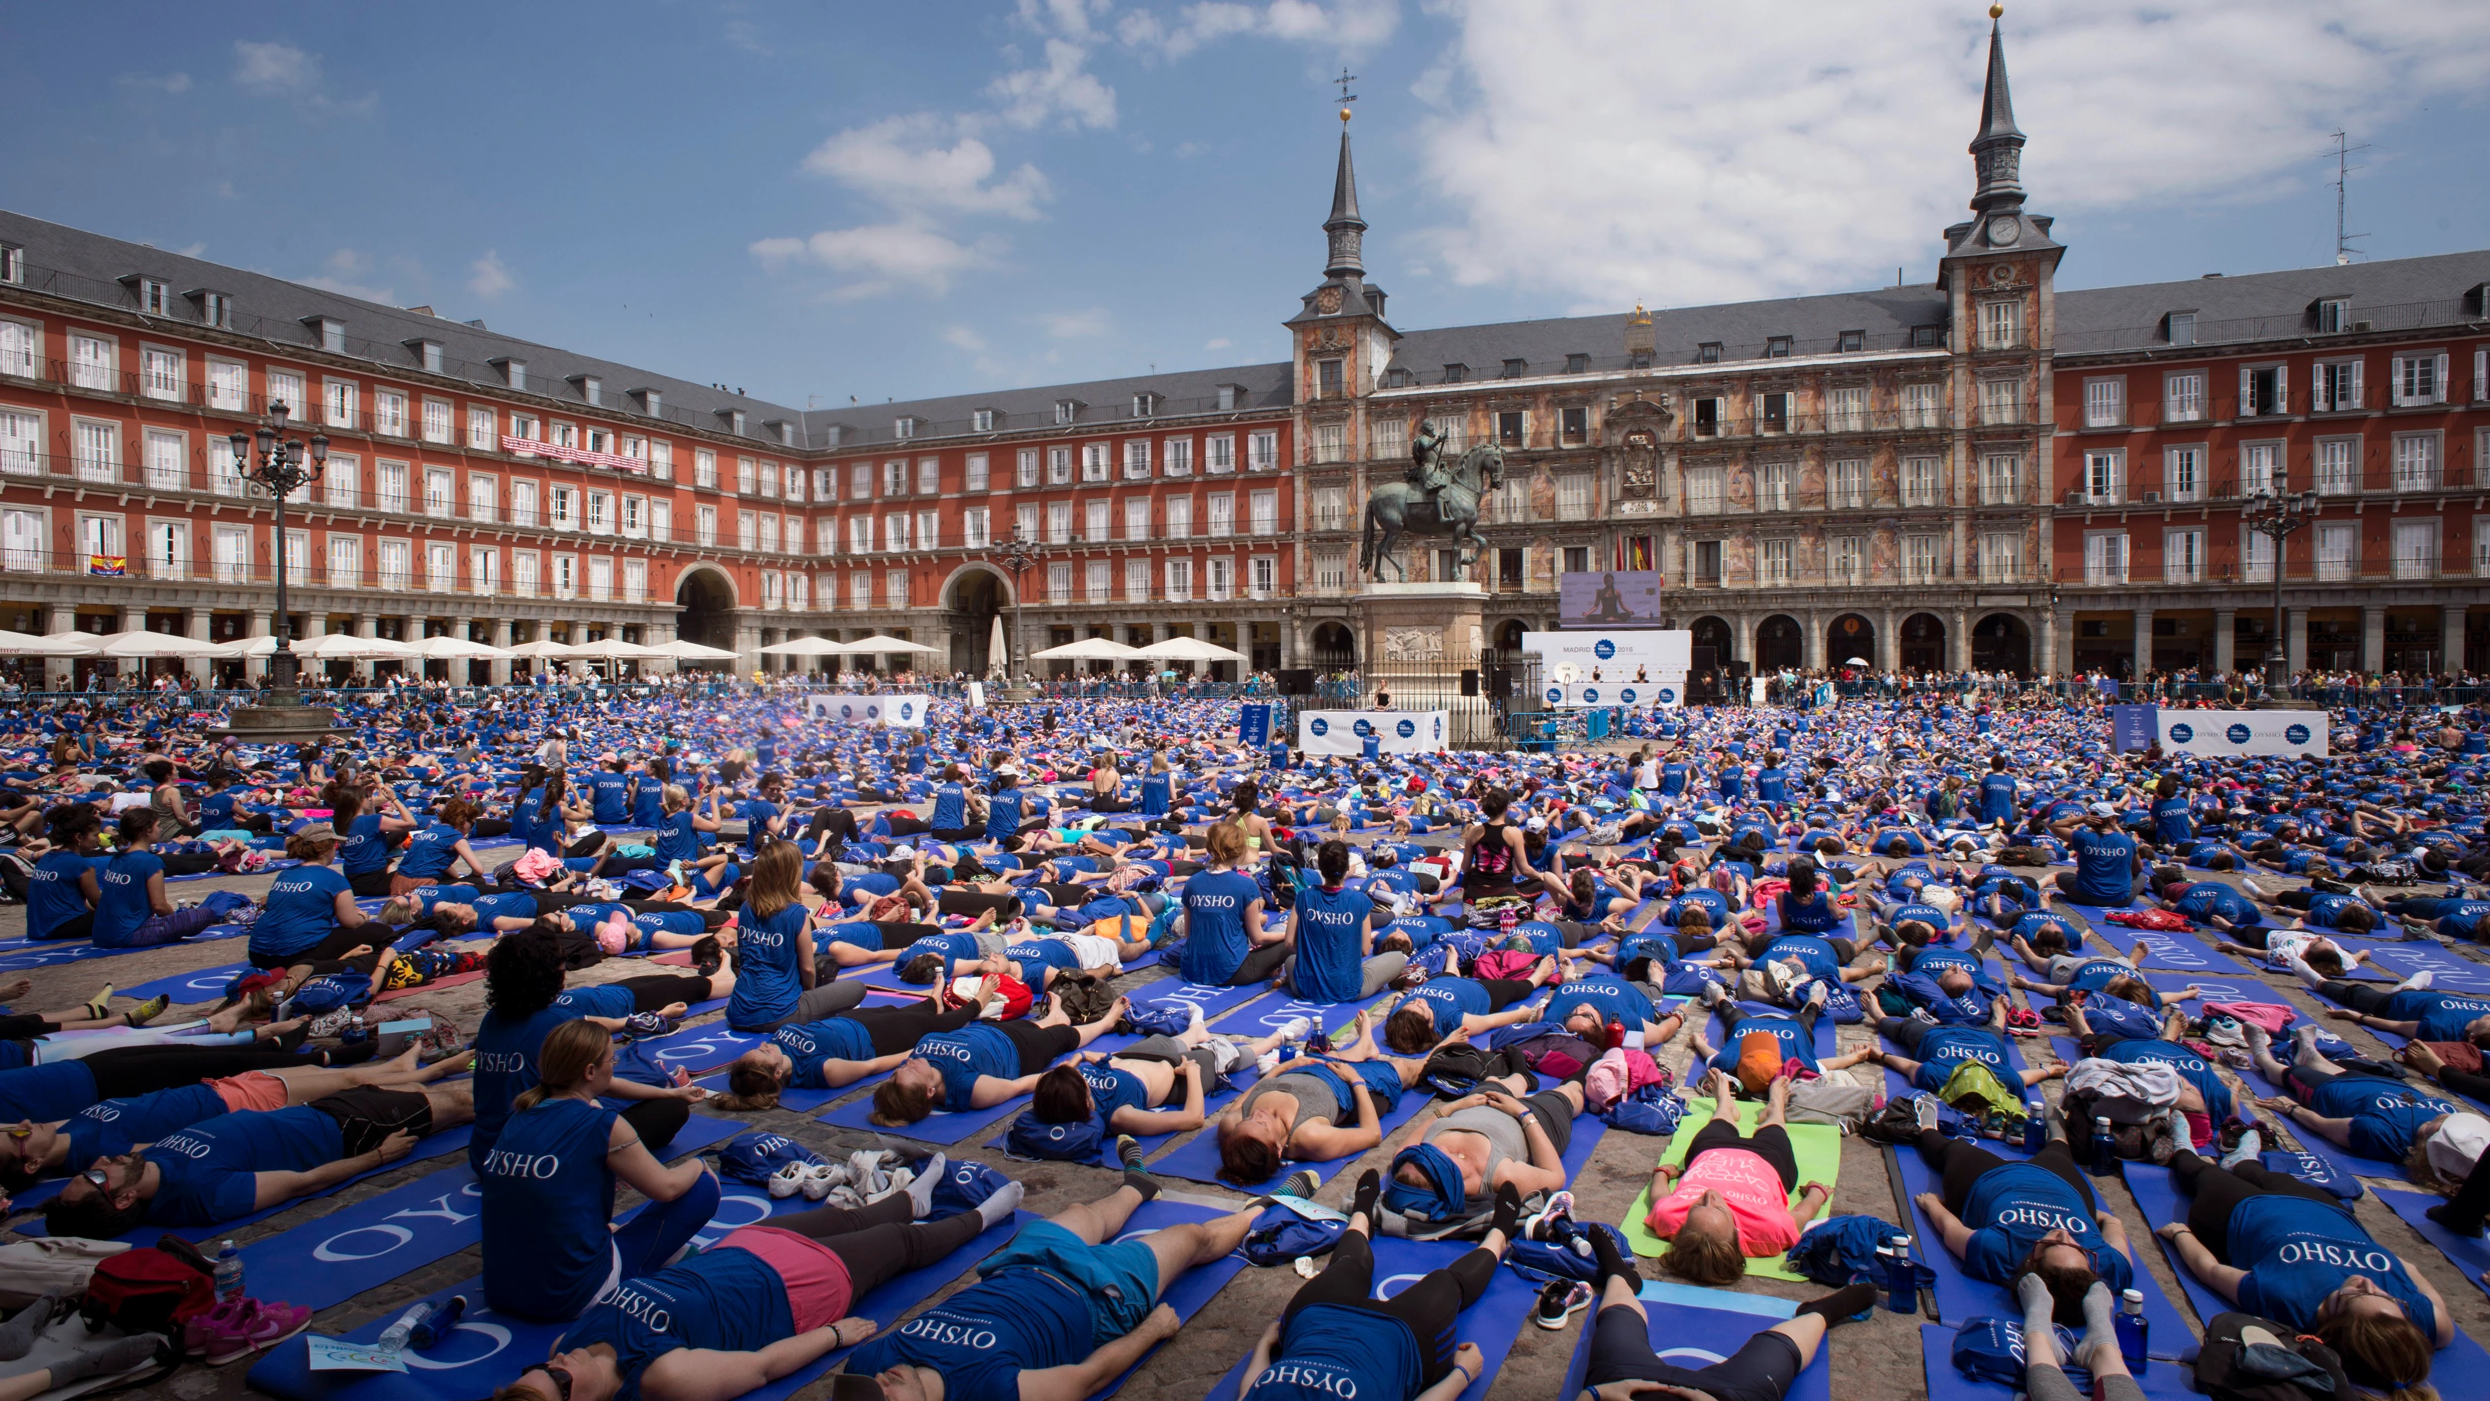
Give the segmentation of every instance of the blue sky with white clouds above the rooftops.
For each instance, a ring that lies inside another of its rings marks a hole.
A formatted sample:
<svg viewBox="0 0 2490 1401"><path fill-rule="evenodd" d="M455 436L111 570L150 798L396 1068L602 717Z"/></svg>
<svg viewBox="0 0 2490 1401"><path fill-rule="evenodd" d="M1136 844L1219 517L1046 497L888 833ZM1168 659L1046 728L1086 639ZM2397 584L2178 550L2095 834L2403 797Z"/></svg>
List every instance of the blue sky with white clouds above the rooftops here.
<svg viewBox="0 0 2490 1401"><path fill-rule="evenodd" d="M12 5L0 207L792 406L1287 356L1350 92L1402 329L1887 287L1927 0ZM2490 5L2014 0L2059 287L2485 247Z"/></svg>

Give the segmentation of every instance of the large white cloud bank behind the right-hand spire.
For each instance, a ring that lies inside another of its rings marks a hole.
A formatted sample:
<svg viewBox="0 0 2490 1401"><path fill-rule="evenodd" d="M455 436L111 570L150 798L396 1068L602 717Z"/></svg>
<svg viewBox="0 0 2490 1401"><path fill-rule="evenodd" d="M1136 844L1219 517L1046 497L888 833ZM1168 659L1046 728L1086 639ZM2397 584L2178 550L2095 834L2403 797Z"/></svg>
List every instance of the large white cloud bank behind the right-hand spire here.
<svg viewBox="0 0 2490 1401"><path fill-rule="evenodd" d="M1666 45L1636 5L1447 17L1419 182L1454 217L1409 252L1454 282L1606 307L1820 292L1925 269L1970 217L1987 27L1965 15L1676 10ZM2326 132L2470 102L2490 60L2490 7L2465 0L2029 0L2007 25L2042 214L2271 197L2316 177Z"/></svg>

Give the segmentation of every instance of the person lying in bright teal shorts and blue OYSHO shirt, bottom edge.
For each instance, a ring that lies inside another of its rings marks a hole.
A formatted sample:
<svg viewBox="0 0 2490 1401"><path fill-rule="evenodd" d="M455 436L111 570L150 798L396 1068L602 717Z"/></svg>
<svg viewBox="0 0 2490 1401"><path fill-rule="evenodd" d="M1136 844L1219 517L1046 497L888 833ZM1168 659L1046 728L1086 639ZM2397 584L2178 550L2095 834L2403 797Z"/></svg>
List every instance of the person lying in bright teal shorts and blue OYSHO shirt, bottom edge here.
<svg viewBox="0 0 2490 1401"><path fill-rule="evenodd" d="M1096 1396L1183 1326L1158 1296L1238 1249L1260 1214L1245 1207L1118 1239L1155 1194L1150 1174L1125 1172L1113 1194L1023 1224L976 1266L976 1284L857 1349L832 1399Z"/></svg>

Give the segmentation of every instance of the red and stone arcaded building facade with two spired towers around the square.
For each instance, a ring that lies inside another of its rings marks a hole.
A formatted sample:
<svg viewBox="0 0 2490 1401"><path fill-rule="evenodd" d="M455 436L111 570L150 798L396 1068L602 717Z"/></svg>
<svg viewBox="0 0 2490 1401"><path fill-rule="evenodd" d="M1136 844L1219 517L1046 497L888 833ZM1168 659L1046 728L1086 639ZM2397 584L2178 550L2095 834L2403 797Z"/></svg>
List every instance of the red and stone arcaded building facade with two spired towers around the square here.
<svg viewBox="0 0 2490 1401"><path fill-rule="evenodd" d="M281 551L296 636L754 668L881 633L984 673L1001 621L1332 668L1367 494L1432 429L1501 449L1469 571L1496 646L1556 623L1561 573L1651 568L1733 668L2253 666L2241 501L2281 486L2323 496L2283 553L2293 666L2490 663L2490 254L2059 294L2022 147L1992 27L1932 284L1402 332L1342 127L1287 361L847 409L0 212L0 626L266 636ZM229 446L279 401L326 436L281 538ZM1437 546L1399 571L1452 578Z"/></svg>

